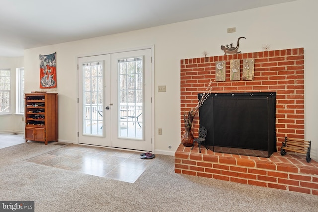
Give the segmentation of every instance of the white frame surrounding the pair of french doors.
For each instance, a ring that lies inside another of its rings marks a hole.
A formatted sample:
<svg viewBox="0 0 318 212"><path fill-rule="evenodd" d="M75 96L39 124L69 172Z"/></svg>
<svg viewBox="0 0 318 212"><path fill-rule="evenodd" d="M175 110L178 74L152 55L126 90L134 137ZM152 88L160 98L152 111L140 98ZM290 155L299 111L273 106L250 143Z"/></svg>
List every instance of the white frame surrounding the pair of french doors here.
<svg viewBox="0 0 318 212"><path fill-rule="evenodd" d="M77 102L75 108L75 135L76 141L75 144L79 144L79 137L78 137L78 129L79 129L79 102L78 102L78 93L79 93L79 73L78 73L78 58L79 57L89 57L89 56L98 56L98 55L105 55L105 54L112 54L112 53L120 53L120 52L127 52L127 51L136 51L136 50L143 50L143 49L151 49L151 142L152 142L152 152L155 152L155 63L154 63L154 45L151 46L144 46L140 48L132 48L132 49L124 49L124 50L117 50L111 52L102 52L96 54L83 54L77 55L75 57L75 71L76 71L76 99Z"/></svg>

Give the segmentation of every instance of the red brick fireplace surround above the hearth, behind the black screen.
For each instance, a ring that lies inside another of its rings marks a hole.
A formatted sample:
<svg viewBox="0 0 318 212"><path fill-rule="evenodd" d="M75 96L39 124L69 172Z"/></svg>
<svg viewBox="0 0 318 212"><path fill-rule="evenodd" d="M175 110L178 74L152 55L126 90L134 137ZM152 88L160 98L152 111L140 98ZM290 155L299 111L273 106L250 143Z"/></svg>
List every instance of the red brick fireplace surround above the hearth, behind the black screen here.
<svg viewBox="0 0 318 212"><path fill-rule="evenodd" d="M230 60L255 59L254 80L230 81ZM215 81L215 61L226 61L226 81ZM277 147L285 136L304 139L304 48L181 60L181 131L183 114L197 105L197 94L212 81L213 93L276 92ZM193 132L199 127L199 116ZM278 149L279 150L279 149Z"/></svg>

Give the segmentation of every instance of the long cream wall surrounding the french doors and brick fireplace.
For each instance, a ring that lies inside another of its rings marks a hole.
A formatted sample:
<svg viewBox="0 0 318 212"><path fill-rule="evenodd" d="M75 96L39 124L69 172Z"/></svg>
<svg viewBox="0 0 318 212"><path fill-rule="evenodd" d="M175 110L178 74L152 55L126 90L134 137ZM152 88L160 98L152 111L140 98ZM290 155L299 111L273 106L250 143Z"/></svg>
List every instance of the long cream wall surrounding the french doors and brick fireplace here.
<svg viewBox="0 0 318 212"><path fill-rule="evenodd" d="M304 47L305 139L312 140L312 158L318 159L318 1L298 0L225 15L207 17L127 33L25 50L25 90L38 90L39 54L57 52L59 93L59 141L76 142L76 58L155 46L155 152L173 155L180 143L180 59L222 55L220 45L235 43L240 36L243 53ZM236 33L227 34L227 28ZM158 93L157 86L167 92ZM162 135L157 129L162 128ZM172 149L168 149L171 145Z"/></svg>

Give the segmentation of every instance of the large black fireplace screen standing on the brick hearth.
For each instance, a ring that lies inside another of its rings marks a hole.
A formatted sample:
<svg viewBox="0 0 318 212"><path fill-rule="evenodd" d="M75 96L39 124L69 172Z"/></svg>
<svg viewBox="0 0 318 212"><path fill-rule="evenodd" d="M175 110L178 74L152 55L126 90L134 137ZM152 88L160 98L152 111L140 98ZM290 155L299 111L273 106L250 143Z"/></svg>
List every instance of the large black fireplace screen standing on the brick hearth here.
<svg viewBox="0 0 318 212"><path fill-rule="evenodd" d="M276 151L275 92L212 93L199 116L214 152L269 157Z"/></svg>

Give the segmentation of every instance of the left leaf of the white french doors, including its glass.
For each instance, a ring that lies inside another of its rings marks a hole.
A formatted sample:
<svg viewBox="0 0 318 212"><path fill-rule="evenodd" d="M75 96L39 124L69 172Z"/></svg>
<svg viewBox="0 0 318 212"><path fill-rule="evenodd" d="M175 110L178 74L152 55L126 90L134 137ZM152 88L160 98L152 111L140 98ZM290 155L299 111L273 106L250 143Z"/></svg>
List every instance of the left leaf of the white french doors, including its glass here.
<svg viewBox="0 0 318 212"><path fill-rule="evenodd" d="M111 146L110 55L80 57L78 66L79 143Z"/></svg>

